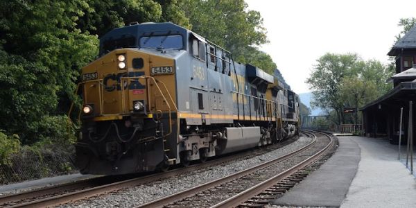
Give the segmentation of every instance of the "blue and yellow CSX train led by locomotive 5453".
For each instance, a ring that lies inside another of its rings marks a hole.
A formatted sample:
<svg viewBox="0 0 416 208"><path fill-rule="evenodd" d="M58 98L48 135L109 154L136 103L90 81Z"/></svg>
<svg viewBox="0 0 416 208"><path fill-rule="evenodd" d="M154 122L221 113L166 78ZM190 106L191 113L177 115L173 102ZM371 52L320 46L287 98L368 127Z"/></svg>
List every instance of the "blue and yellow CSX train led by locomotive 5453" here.
<svg viewBox="0 0 416 208"><path fill-rule="evenodd" d="M82 78L81 173L164 171L299 132L295 93L172 23L103 35Z"/></svg>

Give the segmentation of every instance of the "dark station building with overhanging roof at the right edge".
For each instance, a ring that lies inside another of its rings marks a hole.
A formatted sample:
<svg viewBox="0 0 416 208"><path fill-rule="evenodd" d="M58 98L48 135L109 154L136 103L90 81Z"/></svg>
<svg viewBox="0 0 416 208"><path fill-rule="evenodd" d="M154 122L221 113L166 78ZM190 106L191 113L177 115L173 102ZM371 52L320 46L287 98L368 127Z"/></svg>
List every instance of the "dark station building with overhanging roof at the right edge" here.
<svg viewBox="0 0 416 208"><path fill-rule="evenodd" d="M413 105L412 115L413 120L415 119L416 25L397 41L388 55L395 57L395 75L387 80L393 83L394 88L362 107L361 111L363 112L363 130L367 137L388 137L390 143L397 144L401 108L403 108L402 141L406 141L408 136L410 105ZM413 101L413 104L410 104L410 101Z"/></svg>

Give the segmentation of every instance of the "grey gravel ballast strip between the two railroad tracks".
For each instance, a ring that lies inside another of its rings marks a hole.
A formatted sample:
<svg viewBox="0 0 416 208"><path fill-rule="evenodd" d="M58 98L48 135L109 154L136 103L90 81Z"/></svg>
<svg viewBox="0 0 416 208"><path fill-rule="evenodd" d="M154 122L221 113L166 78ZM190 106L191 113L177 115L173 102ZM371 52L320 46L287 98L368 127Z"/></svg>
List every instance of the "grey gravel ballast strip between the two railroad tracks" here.
<svg viewBox="0 0 416 208"><path fill-rule="evenodd" d="M137 187L114 191L113 193L96 196L87 200L80 200L71 204L62 205L61 207L134 207L281 157L282 155L291 153L293 150L302 148L302 146L306 146L312 140L310 137L300 137L291 144L263 155L237 159L227 164L220 164L209 168L201 168L198 171L191 171L177 175L176 177L168 177Z"/></svg>

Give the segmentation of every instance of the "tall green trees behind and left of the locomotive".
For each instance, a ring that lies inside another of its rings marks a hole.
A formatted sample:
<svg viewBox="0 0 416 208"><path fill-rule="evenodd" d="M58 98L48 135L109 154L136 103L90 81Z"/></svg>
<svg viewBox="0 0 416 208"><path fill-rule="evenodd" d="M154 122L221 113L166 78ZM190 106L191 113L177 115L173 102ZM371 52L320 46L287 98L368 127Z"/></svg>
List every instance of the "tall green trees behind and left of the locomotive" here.
<svg viewBox="0 0 416 208"><path fill-rule="evenodd" d="M0 1L1 164L10 155L38 158L42 164L21 166L33 169L24 180L71 169L48 162L67 161L76 141L76 125L64 114L71 102L80 104L73 94L80 68L98 54L98 37L134 21L171 21L232 51L236 61L277 68L257 48L268 42L263 19L243 0Z"/></svg>

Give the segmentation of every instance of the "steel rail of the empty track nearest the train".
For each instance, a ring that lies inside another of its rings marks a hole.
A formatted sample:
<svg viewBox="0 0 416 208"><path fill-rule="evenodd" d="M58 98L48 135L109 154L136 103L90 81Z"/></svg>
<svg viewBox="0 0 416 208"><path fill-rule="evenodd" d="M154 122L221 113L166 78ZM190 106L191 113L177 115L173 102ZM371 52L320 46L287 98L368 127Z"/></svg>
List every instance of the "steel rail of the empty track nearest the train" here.
<svg viewBox="0 0 416 208"><path fill-rule="evenodd" d="M143 205L139 205L135 208L162 207L163 205L167 205L171 202L181 200L181 199L186 198L187 196L191 196L191 195L193 195L197 192L205 191L206 189L216 187L219 184L224 184L225 182L229 182L229 181L234 180L234 179L236 179L238 177L241 177L243 175L248 175L249 173L252 173L254 171L259 171L259 169L261 169L261 168L265 168L265 167L270 166L272 164L275 164L277 162L281 162L282 160L287 159L288 157L291 157L293 155L301 153L302 151L306 150L307 148L309 148L310 146L315 144L315 141L316 141L316 137L314 137L313 141L311 141L306 146L303 146L302 148L299 148L299 149L297 149L297 150L295 150L291 153L288 153L288 154L283 155L281 157L278 157L276 159L272 159L269 162L263 162L262 164L259 164L257 166L253 166L253 167L245 169L243 171L239 171L237 173L233 173L232 175L227 175L225 177L218 178L217 180L213 180L213 181L207 182L205 184L200 184L197 187L193 187L191 189L180 191L179 193L174 193L173 195L170 195L170 196L165 196L164 198L159 198L157 200L147 202L147 203L145 203Z"/></svg>

